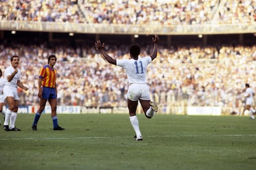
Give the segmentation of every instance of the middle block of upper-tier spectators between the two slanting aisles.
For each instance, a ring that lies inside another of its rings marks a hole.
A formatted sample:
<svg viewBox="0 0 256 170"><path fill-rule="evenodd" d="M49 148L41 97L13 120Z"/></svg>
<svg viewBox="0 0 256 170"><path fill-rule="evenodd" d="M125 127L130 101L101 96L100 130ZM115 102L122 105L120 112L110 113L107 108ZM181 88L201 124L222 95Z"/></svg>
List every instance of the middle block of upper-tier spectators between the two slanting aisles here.
<svg viewBox="0 0 256 170"><path fill-rule="evenodd" d="M89 23L202 24L210 23L218 7L214 1L95 1L83 2Z"/></svg>

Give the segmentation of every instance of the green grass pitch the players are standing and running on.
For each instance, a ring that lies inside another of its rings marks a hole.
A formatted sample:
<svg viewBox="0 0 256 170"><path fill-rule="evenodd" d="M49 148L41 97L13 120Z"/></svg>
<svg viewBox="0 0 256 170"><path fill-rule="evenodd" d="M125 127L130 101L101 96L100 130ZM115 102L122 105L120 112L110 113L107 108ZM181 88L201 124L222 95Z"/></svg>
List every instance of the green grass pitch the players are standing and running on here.
<svg viewBox="0 0 256 170"><path fill-rule="evenodd" d="M65 131L52 130L50 115L32 131L33 118L18 115L20 132L0 129L1 169L256 169L247 116L138 115L137 142L129 115L58 115Z"/></svg>

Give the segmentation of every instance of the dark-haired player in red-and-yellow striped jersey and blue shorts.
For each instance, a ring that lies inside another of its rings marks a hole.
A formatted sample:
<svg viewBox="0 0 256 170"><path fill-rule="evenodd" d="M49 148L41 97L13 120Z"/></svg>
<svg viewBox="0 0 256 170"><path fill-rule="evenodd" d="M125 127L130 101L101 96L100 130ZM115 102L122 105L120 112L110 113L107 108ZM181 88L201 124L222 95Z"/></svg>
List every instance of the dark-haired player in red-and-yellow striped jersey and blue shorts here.
<svg viewBox="0 0 256 170"><path fill-rule="evenodd" d="M48 65L45 65L40 70L40 75L38 79L38 97L40 97L40 108L36 111L35 118L32 124L33 131L37 130L37 123L41 116L43 110L45 110L45 105L47 100L51 105L51 118L53 119L53 130L62 131L64 128L59 126L57 118L57 70L54 65L57 61L55 55L49 55Z"/></svg>

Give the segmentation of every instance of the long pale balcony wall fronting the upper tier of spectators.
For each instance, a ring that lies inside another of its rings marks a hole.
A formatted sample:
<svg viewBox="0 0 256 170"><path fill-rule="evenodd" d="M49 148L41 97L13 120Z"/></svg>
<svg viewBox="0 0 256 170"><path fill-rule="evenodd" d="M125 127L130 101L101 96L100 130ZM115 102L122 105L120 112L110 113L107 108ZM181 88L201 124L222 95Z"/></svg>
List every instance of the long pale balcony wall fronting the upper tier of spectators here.
<svg viewBox="0 0 256 170"><path fill-rule="evenodd" d="M256 22L198 25L129 25L102 23L33 22L0 20L0 30L90 34L237 34L255 33Z"/></svg>

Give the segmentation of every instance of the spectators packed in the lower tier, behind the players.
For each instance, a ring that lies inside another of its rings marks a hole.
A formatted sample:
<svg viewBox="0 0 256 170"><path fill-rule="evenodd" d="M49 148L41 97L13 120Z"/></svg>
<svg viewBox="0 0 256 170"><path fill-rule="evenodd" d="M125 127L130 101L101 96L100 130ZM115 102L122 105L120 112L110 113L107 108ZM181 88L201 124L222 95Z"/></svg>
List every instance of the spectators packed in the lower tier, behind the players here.
<svg viewBox="0 0 256 170"><path fill-rule="evenodd" d="M148 55L151 44L142 49ZM125 46L106 45L117 58L129 58ZM1 44L0 65L9 66L12 55L20 56L20 68L28 91L19 91L21 105L38 105L39 69L49 54L58 57L59 105L126 107L128 83L119 67L108 65L95 47L49 47L45 44ZM234 107L242 105L244 84L256 89L256 46L159 47L148 71L151 98L160 106L186 105Z"/></svg>

